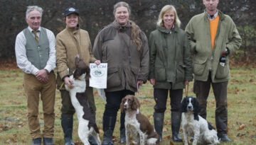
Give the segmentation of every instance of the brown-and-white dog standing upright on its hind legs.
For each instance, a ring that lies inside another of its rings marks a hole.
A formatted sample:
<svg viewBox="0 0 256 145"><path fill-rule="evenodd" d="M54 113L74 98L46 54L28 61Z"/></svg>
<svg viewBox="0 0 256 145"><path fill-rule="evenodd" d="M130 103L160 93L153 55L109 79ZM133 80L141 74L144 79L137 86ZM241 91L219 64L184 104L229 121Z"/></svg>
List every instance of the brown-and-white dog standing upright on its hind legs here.
<svg viewBox="0 0 256 145"><path fill-rule="evenodd" d="M73 88L68 88L66 85L65 88L70 93L72 105L78 115L78 136L83 144L90 145L89 135L95 138L97 144L101 144L95 116L90 111L88 99L85 95L85 78L90 77L90 68L79 56L75 57L75 66L74 74L70 76L70 79L73 80Z"/></svg>

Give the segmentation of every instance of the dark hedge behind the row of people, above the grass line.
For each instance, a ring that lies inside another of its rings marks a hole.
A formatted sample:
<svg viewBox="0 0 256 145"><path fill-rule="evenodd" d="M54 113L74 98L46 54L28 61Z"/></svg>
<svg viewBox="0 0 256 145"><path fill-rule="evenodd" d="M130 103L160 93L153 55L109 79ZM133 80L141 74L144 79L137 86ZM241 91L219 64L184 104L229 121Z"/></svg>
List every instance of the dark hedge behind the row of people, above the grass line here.
<svg viewBox="0 0 256 145"><path fill-rule="evenodd" d="M147 36L155 29L159 11L166 4L176 6L182 28L192 16L202 13L205 6L202 0L124 0L132 8L131 19L144 30ZM114 21L113 6L117 0L0 0L0 57L15 58L16 35L26 28L26 6L38 5L44 10L41 25L57 35L63 28L65 8L74 6L80 11L81 28L90 33L93 42L97 32ZM242 54L245 58L255 58L256 52L256 1L220 0L218 8L228 14L238 27L242 36ZM248 53L249 52L249 53ZM240 55L238 55L240 57ZM242 57L244 58L244 57Z"/></svg>

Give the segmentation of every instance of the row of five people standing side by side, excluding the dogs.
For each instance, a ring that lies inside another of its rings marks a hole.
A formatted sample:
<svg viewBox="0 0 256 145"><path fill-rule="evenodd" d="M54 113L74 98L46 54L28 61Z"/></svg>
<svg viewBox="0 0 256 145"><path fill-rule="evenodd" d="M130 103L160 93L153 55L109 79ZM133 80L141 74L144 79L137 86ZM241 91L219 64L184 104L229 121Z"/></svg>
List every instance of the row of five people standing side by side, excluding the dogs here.
<svg viewBox="0 0 256 145"><path fill-rule="evenodd" d="M149 42L134 21L129 20L131 9L126 2L114 5L114 21L100 30L92 47L89 34L79 26L79 12L67 8L64 13L66 28L55 37L41 27L43 9L28 6L25 28L16 37L16 60L23 72L23 87L28 100L28 127L33 144L53 144L55 88L62 99L61 126L65 145L74 144L73 115L75 109L65 83L72 88L69 78L75 69L75 56L85 63L107 63L107 103L103 114L102 145L112 145L112 134L117 112L125 95L134 95L138 86L147 80L154 86L154 127L162 141L164 112L168 93L171 99L171 130L174 141L182 141L178 132L181 124L180 105L183 88L193 80L196 97L206 118L206 100L213 86L216 100L215 122L218 137L227 137L227 85L229 79L228 54L240 47L241 38L232 19L217 9L218 0L203 0L206 10L191 18L186 30L180 28L176 8L166 5L161 9L156 30ZM193 55L193 66L191 56ZM220 64L220 58L226 61ZM57 79L53 70L57 68ZM90 110L96 116L92 88L86 81ZM38 120L39 95L43 101L43 134ZM120 142L125 143L124 113L120 115ZM89 137L90 144L96 144Z"/></svg>

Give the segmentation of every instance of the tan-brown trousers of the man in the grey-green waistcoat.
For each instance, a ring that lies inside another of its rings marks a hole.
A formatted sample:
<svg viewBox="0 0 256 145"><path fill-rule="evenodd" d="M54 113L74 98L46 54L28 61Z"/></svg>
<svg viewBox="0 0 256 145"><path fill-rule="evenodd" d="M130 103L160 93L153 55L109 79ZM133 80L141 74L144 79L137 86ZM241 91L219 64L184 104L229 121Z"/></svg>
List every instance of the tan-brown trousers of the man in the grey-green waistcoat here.
<svg viewBox="0 0 256 145"><path fill-rule="evenodd" d="M55 74L50 72L48 83L41 83L33 74L23 75L23 88L28 98L28 128L31 132L32 139L53 138L54 133L54 104L55 104ZM44 129L41 135L40 124L38 119L39 94L43 102L43 122Z"/></svg>

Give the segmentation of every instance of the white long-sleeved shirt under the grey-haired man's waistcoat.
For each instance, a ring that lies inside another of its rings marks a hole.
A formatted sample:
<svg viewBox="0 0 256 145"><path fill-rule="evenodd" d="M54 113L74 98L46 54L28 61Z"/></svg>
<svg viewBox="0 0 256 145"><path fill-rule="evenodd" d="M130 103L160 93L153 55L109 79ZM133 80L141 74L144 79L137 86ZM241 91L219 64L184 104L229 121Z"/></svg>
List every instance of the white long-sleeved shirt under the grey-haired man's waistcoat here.
<svg viewBox="0 0 256 145"><path fill-rule="evenodd" d="M32 29L28 27L29 32L35 36L32 33ZM38 28L38 31L36 32L38 37L40 37L41 27ZM48 72L55 69L55 36L52 31L46 29L47 37L49 40L49 59L44 69L47 69ZM21 31L21 33L18 33L16 37L15 42L15 54L16 54L16 61L18 64L18 67L22 69L26 74L33 74L36 75L36 73L39 71L39 69L36 68L31 62L28 61L28 57L26 56L26 37Z"/></svg>

